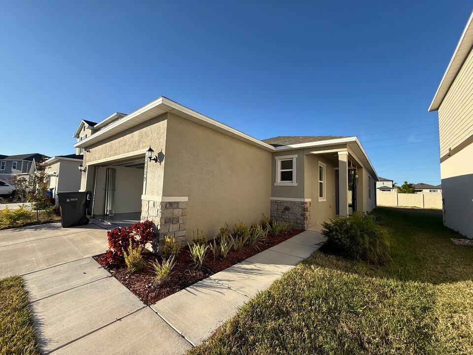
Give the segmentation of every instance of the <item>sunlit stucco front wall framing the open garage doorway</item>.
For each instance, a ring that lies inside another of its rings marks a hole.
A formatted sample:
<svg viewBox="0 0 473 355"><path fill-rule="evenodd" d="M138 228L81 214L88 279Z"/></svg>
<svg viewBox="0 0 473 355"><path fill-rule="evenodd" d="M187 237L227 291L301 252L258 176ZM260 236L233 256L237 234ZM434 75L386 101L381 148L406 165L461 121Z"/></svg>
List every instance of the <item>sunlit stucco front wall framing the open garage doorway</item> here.
<svg viewBox="0 0 473 355"><path fill-rule="evenodd" d="M145 152L150 145L155 154L161 150L165 154L166 127L167 114L165 113L87 147L90 153L84 152L83 165L87 166L87 173L82 174L81 189L92 189L94 166L90 166L91 163L100 166L110 161L123 161L140 156L145 161ZM164 163L162 165L154 162L148 164L145 194L162 196L163 174Z"/></svg>

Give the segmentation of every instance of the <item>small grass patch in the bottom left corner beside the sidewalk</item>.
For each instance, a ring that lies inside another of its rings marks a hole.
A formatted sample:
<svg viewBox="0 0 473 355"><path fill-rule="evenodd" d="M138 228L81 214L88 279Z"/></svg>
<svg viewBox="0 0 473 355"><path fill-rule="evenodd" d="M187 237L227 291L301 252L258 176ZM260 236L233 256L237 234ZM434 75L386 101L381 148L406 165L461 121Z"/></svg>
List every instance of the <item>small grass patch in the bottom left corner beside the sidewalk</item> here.
<svg viewBox="0 0 473 355"><path fill-rule="evenodd" d="M40 354L28 295L19 276L0 279L0 355Z"/></svg>

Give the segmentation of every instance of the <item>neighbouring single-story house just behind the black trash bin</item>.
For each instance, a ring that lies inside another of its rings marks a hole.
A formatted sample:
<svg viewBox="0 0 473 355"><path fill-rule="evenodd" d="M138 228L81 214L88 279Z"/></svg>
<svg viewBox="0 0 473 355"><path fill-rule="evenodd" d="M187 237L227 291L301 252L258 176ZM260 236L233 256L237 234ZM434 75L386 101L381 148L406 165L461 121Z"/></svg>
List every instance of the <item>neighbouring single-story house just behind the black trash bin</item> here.
<svg viewBox="0 0 473 355"><path fill-rule="evenodd" d="M82 159L83 155L55 155L44 162L46 182L54 198L58 192L80 189L82 171L79 170L79 165L82 164Z"/></svg>

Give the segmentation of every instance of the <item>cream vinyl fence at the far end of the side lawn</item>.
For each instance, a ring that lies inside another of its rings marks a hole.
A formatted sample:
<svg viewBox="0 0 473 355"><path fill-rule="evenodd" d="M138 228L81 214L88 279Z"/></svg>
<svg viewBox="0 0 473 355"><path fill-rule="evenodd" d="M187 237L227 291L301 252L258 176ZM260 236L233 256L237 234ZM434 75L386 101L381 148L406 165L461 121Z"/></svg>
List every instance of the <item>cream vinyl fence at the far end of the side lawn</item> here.
<svg viewBox="0 0 473 355"><path fill-rule="evenodd" d="M378 192L376 193L376 205L441 209L442 195Z"/></svg>

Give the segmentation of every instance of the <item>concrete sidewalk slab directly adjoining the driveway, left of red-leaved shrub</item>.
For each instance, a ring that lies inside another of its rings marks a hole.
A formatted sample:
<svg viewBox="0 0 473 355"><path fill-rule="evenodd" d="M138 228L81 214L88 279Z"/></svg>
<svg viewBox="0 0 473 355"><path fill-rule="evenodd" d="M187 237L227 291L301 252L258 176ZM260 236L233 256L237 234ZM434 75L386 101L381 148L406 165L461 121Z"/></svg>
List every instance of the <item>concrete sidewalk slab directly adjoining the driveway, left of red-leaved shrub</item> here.
<svg viewBox="0 0 473 355"><path fill-rule="evenodd" d="M30 302L111 277L93 258L62 264L23 276Z"/></svg>

